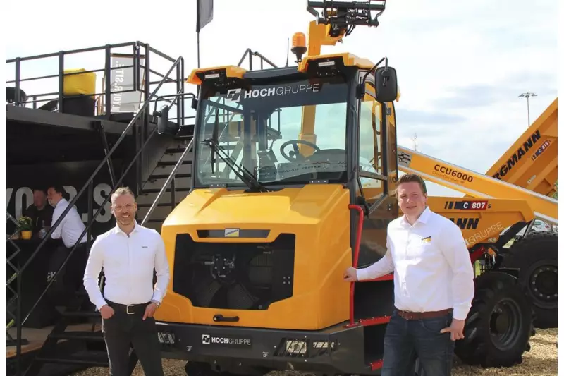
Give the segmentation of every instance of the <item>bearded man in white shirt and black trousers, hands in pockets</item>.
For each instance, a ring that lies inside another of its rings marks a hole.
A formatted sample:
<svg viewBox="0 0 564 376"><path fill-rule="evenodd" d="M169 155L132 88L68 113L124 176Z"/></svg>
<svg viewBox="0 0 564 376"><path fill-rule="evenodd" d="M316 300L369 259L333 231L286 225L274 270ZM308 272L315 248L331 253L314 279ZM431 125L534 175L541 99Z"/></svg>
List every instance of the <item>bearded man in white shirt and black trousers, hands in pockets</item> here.
<svg viewBox="0 0 564 376"><path fill-rule="evenodd" d="M129 375L130 344L133 344L146 376L162 376L161 348L154 313L168 285L168 260L157 231L137 224L137 204L129 188L111 195L114 229L96 238L84 274L90 301L102 315L110 375ZM104 296L98 286L104 268ZM153 288L153 270L157 284Z"/></svg>

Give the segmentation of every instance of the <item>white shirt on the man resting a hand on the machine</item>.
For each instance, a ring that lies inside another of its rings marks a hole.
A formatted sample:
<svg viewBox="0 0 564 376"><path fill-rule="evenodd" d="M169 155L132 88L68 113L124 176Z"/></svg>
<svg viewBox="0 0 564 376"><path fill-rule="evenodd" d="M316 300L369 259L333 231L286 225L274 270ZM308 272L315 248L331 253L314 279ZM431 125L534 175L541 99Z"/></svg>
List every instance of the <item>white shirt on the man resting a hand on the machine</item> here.
<svg viewBox="0 0 564 376"><path fill-rule="evenodd" d="M388 224L388 251L357 270L359 280L393 275L395 305L409 312L453 308L465 320L474 297L474 269L462 231L427 207L411 226L405 216Z"/></svg>

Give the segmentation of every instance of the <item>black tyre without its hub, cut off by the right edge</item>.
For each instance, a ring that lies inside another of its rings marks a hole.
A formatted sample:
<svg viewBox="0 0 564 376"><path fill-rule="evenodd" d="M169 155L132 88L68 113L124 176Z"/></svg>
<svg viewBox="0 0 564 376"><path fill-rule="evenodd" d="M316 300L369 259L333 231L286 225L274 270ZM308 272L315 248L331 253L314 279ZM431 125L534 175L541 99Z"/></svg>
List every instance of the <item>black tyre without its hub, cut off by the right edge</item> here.
<svg viewBox="0 0 564 376"><path fill-rule="evenodd" d="M558 265L558 234L548 231L527 234L526 238L512 245L507 255L503 257L501 266L520 269L519 283L522 289L529 291L527 273L523 271L543 259L555 260ZM558 327L558 300L556 308L542 308L534 303L534 296L530 292L527 292L527 296L533 304L535 327L539 329Z"/></svg>

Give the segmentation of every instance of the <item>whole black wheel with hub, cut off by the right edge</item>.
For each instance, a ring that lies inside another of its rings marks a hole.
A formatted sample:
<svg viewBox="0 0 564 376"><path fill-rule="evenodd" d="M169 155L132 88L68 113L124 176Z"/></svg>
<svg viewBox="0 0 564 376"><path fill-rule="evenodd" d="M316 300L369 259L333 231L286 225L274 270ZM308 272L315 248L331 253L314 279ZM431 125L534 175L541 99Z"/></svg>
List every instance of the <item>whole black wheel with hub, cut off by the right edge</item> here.
<svg viewBox="0 0 564 376"><path fill-rule="evenodd" d="M558 234L527 234L509 249L501 267L519 269L519 283L533 305L534 326L558 327Z"/></svg>

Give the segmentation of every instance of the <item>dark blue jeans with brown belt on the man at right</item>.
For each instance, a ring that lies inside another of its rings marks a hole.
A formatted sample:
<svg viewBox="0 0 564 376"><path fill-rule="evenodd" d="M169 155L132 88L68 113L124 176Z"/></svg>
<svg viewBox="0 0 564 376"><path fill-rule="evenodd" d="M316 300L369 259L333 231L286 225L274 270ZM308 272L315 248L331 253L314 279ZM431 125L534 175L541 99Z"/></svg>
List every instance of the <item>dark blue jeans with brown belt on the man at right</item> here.
<svg viewBox="0 0 564 376"><path fill-rule="evenodd" d="M394 310L384 337L381 376L413 375L415 359L425 376L450 376L455 341L441 329L450 327L452 313L441 317L406 320Z"/></svg>

